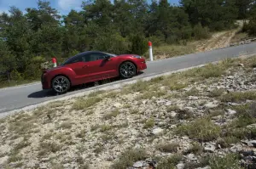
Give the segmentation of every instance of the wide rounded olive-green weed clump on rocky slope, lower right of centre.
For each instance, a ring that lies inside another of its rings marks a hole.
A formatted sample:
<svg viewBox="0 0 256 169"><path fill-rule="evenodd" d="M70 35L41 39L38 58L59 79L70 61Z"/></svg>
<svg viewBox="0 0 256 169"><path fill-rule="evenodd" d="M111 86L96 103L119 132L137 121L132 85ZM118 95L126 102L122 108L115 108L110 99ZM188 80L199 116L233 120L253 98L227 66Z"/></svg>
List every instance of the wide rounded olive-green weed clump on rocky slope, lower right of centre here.
<svg viewBox="0 0 256 169"><path fill-rule="evenodd" d="M210 119L201 118L196 121L177 127L178 135L188 135L189 138L199 141L212 141L220 135L220 127Z"/></svg>

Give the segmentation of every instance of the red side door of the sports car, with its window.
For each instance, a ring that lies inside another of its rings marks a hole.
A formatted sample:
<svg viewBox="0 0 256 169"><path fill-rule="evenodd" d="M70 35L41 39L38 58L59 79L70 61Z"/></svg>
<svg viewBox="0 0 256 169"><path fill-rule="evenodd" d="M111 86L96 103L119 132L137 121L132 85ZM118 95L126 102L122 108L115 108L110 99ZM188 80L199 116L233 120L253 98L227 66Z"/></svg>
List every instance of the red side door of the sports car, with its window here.
<svg viewBox="0 0 256 169"><path fill-rule="evenodd" d="M105 59L108 54L92 53L90 54L90 61L88 62L88 71L90 72L91 81L98 81L104 78L117 76L117 65L115 64L115 57Z"/></svg>

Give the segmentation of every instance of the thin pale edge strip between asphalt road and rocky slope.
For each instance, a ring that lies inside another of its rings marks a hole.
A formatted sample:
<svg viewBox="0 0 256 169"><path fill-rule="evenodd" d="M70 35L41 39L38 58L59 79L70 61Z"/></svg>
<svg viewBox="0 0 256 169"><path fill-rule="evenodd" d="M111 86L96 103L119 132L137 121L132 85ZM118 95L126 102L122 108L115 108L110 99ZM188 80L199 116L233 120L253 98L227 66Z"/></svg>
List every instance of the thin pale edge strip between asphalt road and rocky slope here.
<svg viewBox="0 0 256 169"><path fill-rule="evenodd" d="M253 57L253 56L255 56L255 54L243 54L243 55L239 55L236 58L232 58L232 59L238 59L238 58L244 59L244 58L249 58L249 57ZM0 113L0 119L4 118L4 117L7 117L9 115L14 115L14 114L19 113L21 111L34 110L34 109L36 109L36 108L38 108L40 106L43 106L45 104L49 104L49 103L52 103L52 102L55 102L55 101L62 101L62 100L74 99L74 98L86 96L86 95L88 95L90 93L93 93L95 91L98 91L98 90L105 90L105 91L107 91L107 90L119 89L120 87L123 87L125 85L130 85L130 84L136 83L138 80L140 80L140 81L149 81L149 80L151 80L151 79L153 79L155 77L159 77L159 76L169 76L169 75L172 75L173 73L183 72L183 71L186 71L186 70L192 70L192 69L200 68L200 67L203 67L203 66L209 65L209 64L213 64L213 65L214 64L218 64L218 62L220 62L222 60L224 60L224 59L221 59L221 60L218 60L218 61L214 61L214 62L209 62L207 64L190 66L188 68L183 68L183 69L179 69L179 70L172 70L172 71L162 72L162 73L159 73L159 74L151 74L151 75L148 75L146 77L135 78L134 80L127 81L127 82L120 82L120 83L117 83L117 84L108 83L108 84L106 84L106 86L102 85L102 87L99 86L99 87L96 87L96 88L91 89L89 91L84 91L84 92L81 92L81 93L74 93L74 94L67 95L67 96L64 96L64 97L61 97L61 98L50 99L48 101L44 101L44 102L39 103L39 104L28 105L26 107L23 107L23 108L20 108L20 109L17 109L17 110L10 110L10 111L6 111L6 112L3 112L3 113Z"/></svg>

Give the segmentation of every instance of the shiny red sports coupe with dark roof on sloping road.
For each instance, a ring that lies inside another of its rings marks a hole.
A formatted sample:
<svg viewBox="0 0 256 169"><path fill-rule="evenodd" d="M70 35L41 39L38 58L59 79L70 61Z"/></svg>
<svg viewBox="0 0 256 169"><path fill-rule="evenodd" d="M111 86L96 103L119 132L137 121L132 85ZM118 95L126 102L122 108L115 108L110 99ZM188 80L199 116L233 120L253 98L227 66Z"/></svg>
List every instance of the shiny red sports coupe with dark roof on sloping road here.
<svg viewBox="0 0 256 169"><path fill-rule="evenodd" d="M44 70L43 89L67 93L70 87L120 76L131 78L147 69L146 60L136 54L108 54L89 51L67 59L63 64Z"/></svg>

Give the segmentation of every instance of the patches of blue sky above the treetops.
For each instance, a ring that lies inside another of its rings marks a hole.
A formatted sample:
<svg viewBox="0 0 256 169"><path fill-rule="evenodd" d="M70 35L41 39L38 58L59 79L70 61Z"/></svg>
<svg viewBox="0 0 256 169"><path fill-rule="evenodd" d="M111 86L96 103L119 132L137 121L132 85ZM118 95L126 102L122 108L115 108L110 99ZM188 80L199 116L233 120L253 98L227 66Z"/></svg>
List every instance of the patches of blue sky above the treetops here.
<svg viewBox="0 0 256 169"><path fill-rule="evenodd" d="M148 0L151 2L151 0ZM169 3L178 3L179 0L169 0ZM60 14L68 14L73 8L79 10L83 0L49 0L51 7L58 9ZM9 13L9 7L15 6L25 12L26 8L37 8L38 0L0 0L0 13Z"/></svg>

